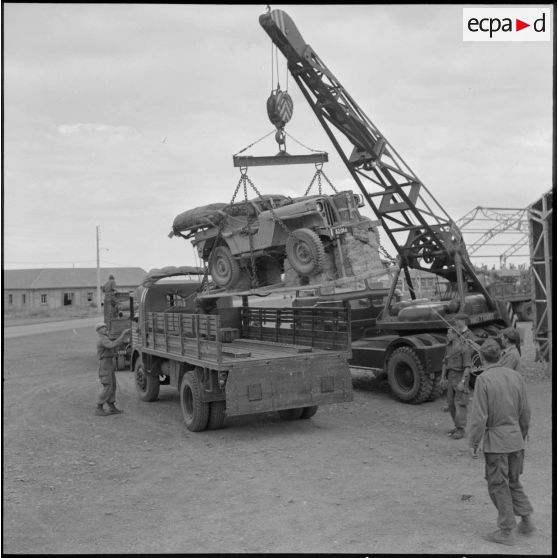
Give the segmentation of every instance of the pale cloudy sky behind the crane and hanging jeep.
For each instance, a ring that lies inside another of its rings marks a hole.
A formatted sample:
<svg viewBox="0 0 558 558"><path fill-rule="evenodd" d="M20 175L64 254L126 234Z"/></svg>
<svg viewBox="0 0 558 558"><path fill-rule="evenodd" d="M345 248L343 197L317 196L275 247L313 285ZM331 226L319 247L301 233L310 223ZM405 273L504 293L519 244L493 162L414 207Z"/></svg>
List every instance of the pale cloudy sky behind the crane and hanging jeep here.
<svg viewBox="0 0 558 558"><path fill-rule="evenodd" d="M173 219L231 201L233 154L274 130L274 68L294 102L287 151L327 151L326 176L356 191L281 53L272 63L266 7L4 3L4 268L95 267L97 227L102 267L197 265L189 241L168 237ZM452 219L551 188L551 41L464 42L461 5L271 7ZM272 134L244 153L277 151ZM314 170L248 176L292 196Z"/></svg>

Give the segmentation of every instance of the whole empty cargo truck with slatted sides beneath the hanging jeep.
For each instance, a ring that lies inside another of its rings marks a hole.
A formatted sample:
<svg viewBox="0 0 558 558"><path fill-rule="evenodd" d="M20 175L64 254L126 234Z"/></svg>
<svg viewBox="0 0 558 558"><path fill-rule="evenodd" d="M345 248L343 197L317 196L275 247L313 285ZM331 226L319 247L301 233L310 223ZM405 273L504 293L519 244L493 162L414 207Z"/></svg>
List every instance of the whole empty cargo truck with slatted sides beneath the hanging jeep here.
<svg viewBox="0 0 558 558"><path fill-rule="evenodd" d="M160 385L178 388L189 430L266 411L310 418L319 405L352 400L347 309L227 306L201 314L174 305L176 285L172 293L162 284L142 289L132 367L143 401L156 400Z"/></svg>

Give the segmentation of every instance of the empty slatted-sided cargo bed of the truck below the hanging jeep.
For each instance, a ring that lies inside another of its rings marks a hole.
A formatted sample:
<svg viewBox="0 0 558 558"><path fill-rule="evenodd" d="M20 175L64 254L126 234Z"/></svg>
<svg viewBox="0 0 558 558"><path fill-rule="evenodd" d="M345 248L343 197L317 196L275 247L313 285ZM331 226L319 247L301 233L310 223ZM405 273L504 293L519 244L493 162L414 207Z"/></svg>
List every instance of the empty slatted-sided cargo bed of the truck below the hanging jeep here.
<svg viewBox="0 0 558 558"><path fill-rule="evenodd" d="M219 370L241 362L350 352L348 312L338 308L149 312L143 325L144 350Z"/></svg>

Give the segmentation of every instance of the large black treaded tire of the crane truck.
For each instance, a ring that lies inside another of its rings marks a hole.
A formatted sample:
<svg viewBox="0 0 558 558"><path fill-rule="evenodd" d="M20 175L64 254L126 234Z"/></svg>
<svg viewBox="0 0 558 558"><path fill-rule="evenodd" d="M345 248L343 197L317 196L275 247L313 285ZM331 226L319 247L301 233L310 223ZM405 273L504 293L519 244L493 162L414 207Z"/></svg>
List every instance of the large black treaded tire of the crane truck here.
<svg viewBox="0 0 558 558"><path fill-rule="evenodd" d="M387 376L391 390L405 403L424 403L432 393L433 380L411 347L398 347L391 353Z"/></svg>

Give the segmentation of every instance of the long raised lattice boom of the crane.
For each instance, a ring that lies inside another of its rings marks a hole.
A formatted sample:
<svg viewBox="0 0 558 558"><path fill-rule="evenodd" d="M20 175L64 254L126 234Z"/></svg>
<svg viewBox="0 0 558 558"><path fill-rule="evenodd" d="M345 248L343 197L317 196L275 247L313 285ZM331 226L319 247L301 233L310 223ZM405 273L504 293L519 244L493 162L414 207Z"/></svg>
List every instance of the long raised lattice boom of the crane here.
<svg viewBox="0 0 558 558"><path fill-rule="evenodd" d="M271 10L259 21L397 250L413 298L409 269L418 269L456 284L462 301L473 288L494 308L458 226L304 41L290 16ZM348 148L334 130L349 140Z"/></svg>

